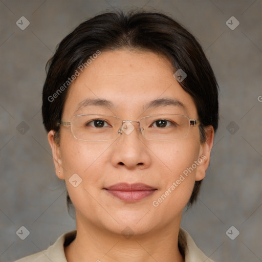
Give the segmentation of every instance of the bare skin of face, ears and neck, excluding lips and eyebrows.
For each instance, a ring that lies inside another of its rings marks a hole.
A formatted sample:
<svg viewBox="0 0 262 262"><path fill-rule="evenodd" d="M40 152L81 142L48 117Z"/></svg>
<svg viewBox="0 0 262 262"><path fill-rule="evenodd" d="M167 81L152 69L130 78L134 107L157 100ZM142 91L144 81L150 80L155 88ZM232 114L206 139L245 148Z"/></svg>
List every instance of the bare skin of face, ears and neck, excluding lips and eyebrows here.
<svg viewBox="0 0 262 262"><path fill-rule="evenodd" d="M140 120L170 110L198 119L192 97L181 88L173 73L166 58L149 51L102 52L70 86L62 120L70 121L74 115L90 112ZM114 107L89 106L75 112L85 98L107 99ZM157 98L178 99L186 109L161 106L143 110L144 104ZM184 261L178 249L178 233L194 182L205 177L209 164L214 131L209 126L206 132L204 144L200 143L198 126L190 127L187 137L173 141L146 140L136 128L114 141L88 142L75 139L70 126L61 126L58 145L51 130L48 140L56 173L65 180L76 209L77 236L64 249L67 260ZM202 155L205 160L154 207L152 201ZM69 183L74 173L82 179L77 187ZM120 182L144 183L158 190L143 200L127 203L103 190ZM127 226L134 232L128 239L121 234Z"/></svg>

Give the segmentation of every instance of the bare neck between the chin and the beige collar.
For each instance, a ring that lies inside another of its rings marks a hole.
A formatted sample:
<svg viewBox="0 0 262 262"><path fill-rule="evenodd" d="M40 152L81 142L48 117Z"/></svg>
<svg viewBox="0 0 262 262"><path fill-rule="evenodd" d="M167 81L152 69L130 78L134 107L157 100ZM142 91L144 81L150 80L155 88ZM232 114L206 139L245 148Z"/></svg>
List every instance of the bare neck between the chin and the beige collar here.
<svg viewBox="0 0 262 262"><path fill-rule="evenodd" d="M65 247L65 256L68 262L183 262L179 225L180 221L172 222L165 228L123 236L92 223L77 223L76 238Z"/></svg>

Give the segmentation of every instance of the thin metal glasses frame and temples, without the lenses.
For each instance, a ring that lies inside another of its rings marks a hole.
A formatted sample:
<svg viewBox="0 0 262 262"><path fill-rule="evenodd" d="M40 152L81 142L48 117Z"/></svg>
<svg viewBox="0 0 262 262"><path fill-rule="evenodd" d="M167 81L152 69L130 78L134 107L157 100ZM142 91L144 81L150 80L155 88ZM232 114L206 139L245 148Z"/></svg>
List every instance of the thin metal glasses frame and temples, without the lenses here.
<svg viewBox="0 0 262 262"><path fill-rule="evenodd" d="M157 116L169 116L169 115L171 115L171 116L183 116L183 117L187 117L188 119L189 119L189 128L188 128L188 133L189 133L189 130L190 130L190 126L197 126L197 125L200 125L200 120L198 120L198 119L190 119L190 117L189 116L187 116L187 115L180 115L180 114L158 114L158 115L150 115L150 116L145 116L145 117L142 117L142 118L140 118L140 120L138 121L138 120L122 120L120 117L116 117L116 116L111 116L111 115L100 115L100 114L84 114L84 115L76 115L76 116L73 116L72 117L72 119L74 118L74 117L80 117L80 116L105 116L105 117L114 117L114 118L118 118L119 120L121 120L122 121L122 124L121 124L121 126L120 126L120 128L117 130L117 133L118 134L121 134L121 135L123 135L123 132L122 132L122 127L123 127L123 124L124 123L126 123L126 122L129 122L129 123L131 123L131 122L136 122L136 123L139 123L139 129L140 129L140 131L141 131L141 134L142 134L142 136L146 139L146 140L154 140L154 141L173 141L173 140L176 140L176 139L179 139L179 138L174 138L174 139L167 139L167 140L163 140L163 139L148 139L148 138L146 138L144 135L143 135L143 127L141 128L141 126L140 126L140 122L141 122L141 120L142 119L144 119L144 118L147 118L147 117L157 117ZM62 121L62 120L58 120L58 122L57 122L57 124L58 124L58 126L59 125L63 125L63 126L71 126L71 132L72 132L72 135L73 135L73 137L75 138L75 139L77 139L77 140L81 140L81 141L90 141L90 142L102 142L102 141L111 141L111 140L114 140L114 139L108 139L108 140L85 140L85 139L79 139L79 138L76 138L75 137L75 135L74 135L74 132L73 132L73 125L72 125L72 119L70 120L70 121ZM187 135L188 135L188 133L187 133ZM187 135L186 136L184 136L184 137L187 137ZM181 138L184 138L184 137L181 137Z"/></svg>

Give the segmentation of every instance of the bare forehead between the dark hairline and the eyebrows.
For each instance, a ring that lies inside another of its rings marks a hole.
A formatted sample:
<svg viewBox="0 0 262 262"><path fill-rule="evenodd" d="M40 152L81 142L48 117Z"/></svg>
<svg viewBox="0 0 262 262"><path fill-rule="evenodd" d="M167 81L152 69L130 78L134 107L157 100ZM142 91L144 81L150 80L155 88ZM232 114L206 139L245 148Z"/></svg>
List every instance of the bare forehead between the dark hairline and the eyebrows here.
<svg viewBox="0 0 262 262"><path fill-rule="evenodd" d="M103 107L103 103L85 106L85 101L90 99L110 101L114 112L135 115L145 111L152 101L171 99L183 105L182 113L196 115L192 97L181 88L173 73L167 58L150 51L101 52L71 84L63 115L73 116L84 107L96 106L97 110ZM171 103L161 106L171 106Z"/></svg>

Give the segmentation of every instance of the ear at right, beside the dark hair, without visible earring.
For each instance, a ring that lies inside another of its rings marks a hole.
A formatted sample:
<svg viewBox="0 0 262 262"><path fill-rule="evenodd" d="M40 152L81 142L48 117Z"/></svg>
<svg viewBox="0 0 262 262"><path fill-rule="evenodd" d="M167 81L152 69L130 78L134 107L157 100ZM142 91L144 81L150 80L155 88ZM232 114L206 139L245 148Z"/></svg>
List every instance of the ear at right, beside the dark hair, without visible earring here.
<svg viewBox="0 0 262 262"><path fill-rule="evenodd" d="M209 161L210 161L211 149L214 143L213 126L211 125L207 126L205 128L205 132L206 132L206 141L203 144L201 144L201 147L200 147L200 154L197 160L199 164L197 167L197 173L195 175L195 181L200 181L205 178L206 170L208 168Z"/></svg>

